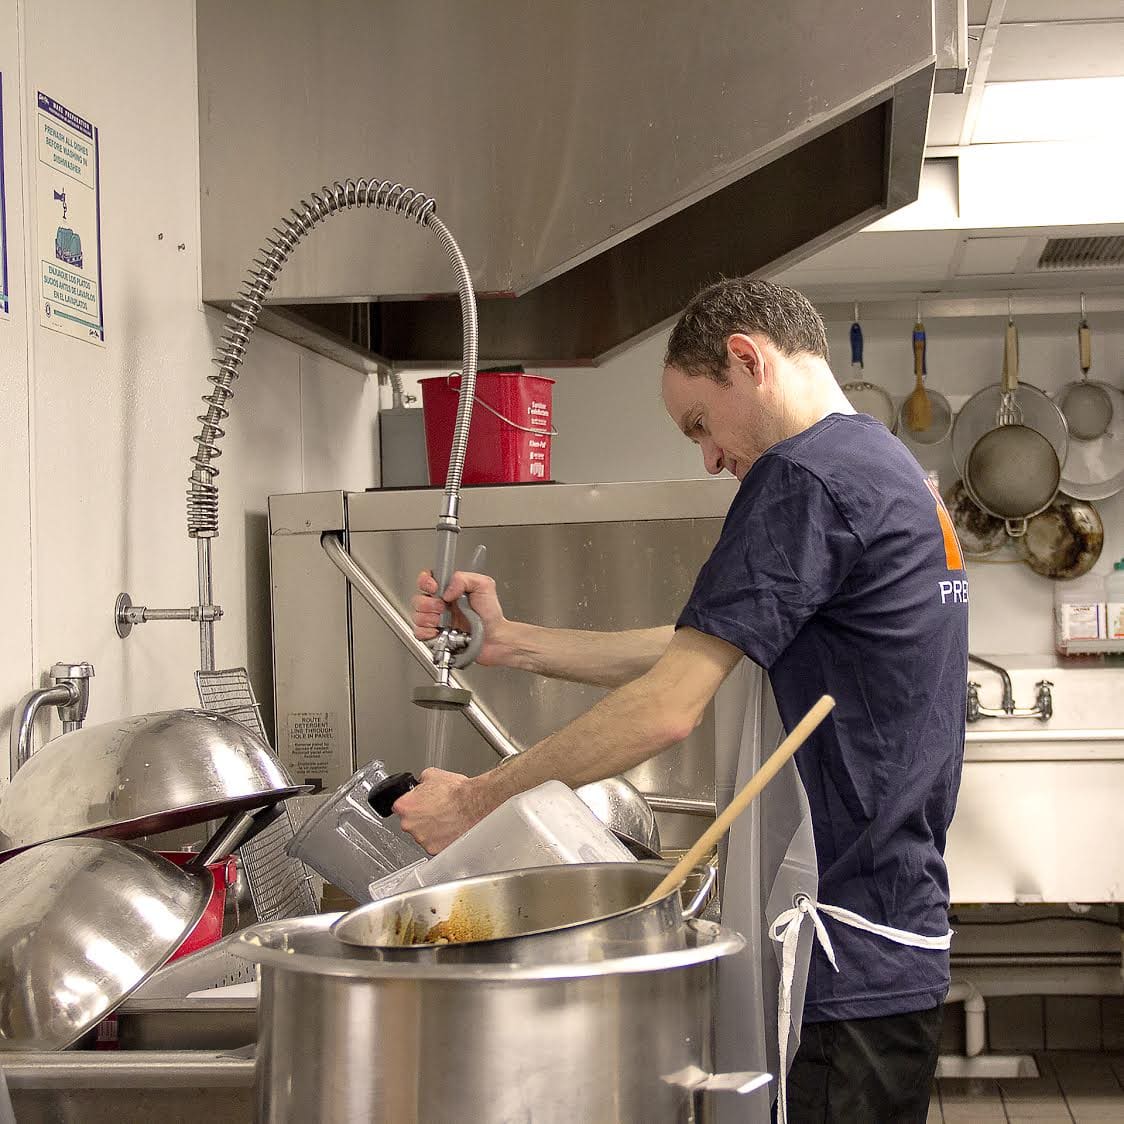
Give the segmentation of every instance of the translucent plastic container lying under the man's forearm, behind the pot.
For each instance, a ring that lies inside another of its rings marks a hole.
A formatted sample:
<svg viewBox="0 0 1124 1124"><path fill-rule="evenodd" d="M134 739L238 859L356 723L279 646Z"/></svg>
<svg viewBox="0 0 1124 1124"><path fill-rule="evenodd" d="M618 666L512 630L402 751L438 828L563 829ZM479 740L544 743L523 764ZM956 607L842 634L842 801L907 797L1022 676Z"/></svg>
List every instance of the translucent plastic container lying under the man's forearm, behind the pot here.
<svg viewBox="0 0 1124 1124"><path fill-rule="evenodd" d="M559 780L505 800L428 862L371 882L372 901L478 874L564 862L635 862L632 852Z"/></svg>

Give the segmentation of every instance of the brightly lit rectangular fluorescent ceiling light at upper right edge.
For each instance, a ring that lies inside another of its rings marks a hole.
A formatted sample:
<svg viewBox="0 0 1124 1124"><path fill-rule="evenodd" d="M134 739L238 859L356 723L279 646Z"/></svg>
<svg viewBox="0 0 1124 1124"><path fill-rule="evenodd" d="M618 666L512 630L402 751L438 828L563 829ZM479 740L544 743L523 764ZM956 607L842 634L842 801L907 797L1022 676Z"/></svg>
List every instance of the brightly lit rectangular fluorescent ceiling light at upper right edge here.
<svg viewBox="0 0 1124 1124"><path fill-rule="evenodd" d="M971 143L1108 139L1122 116L1124 78L989 82Z"/></svg>

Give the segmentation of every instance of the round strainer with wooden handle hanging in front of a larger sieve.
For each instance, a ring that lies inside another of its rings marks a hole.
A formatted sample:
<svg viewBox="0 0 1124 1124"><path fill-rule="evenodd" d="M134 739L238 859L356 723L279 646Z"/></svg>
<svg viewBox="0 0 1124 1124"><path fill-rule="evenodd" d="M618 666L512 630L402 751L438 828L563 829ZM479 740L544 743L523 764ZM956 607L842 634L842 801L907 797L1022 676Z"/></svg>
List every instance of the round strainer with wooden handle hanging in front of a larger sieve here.
<svg viewBox="0 0 1124 1124"><path fill-rule="evenodd" d="M972 499L1003 519L1013 538L1026 534L1026 520L1053 502L1061 482L1061 459L1049 437L1024 424L1017 389L1018 334L1008 319L995 426L972 445L964 482Z"/></svg>

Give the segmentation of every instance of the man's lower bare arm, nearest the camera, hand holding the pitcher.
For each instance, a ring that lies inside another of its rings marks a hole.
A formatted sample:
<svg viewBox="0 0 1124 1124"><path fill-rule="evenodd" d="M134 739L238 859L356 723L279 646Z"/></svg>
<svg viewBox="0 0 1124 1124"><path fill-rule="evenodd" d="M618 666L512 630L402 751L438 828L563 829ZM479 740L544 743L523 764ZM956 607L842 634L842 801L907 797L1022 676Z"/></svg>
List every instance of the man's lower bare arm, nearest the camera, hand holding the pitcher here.
<svg viewBox="0 0 1124 1124"><path fill-rule="evenodd" d="M526 753L479 777L427 769L395 804L402 828L436 854L517 792L547 780L577 788L632 769L683 741L743 658L724 640L681 628L650 671Z"/></svg>

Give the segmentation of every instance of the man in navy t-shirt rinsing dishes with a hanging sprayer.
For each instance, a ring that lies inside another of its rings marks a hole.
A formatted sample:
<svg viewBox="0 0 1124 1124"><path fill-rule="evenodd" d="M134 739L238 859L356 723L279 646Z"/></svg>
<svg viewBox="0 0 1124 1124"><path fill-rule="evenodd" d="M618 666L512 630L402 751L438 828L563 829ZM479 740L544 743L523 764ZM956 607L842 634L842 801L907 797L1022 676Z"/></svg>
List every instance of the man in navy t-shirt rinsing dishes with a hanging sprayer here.
<svg viewBox="0 0 1124 1124"><path fill-rule="evenodd" d="M964 741L968 583L940 495L856 415L799 293L733 279L671 333L668 413L707 471L741 480L674 631L575 633L507 620L495 583L419 577L415 631L468 592L481 662L617 688L481 777L427 770L395 806L438 851L515 792L613 776L685 737L729 671L769 674L786 727L836 707L798 751L837 971L814 951L789 1120L924 1121L949 986L943 851ZM736 878L731 855L726 879Z"/></svg>

